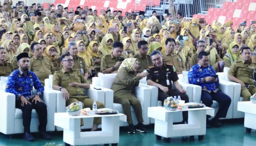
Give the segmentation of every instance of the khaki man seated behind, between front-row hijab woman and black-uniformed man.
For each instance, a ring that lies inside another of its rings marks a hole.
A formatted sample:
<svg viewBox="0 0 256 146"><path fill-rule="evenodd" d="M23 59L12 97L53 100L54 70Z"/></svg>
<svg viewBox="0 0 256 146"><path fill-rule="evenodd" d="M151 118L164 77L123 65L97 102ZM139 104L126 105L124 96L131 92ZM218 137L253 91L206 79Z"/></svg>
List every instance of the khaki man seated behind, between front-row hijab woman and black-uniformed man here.
<svg viewBox="0 0 256 146"><path fill-rule="evenodd" d="M143 72L143 70L147 69L148 66L153 65L151 61L150 55L147 55L148 51L148 43L147 41L139 41L138 42L139 53L135 54L133 58L137 58L139 61L139 68L137 73Z"/></svg>

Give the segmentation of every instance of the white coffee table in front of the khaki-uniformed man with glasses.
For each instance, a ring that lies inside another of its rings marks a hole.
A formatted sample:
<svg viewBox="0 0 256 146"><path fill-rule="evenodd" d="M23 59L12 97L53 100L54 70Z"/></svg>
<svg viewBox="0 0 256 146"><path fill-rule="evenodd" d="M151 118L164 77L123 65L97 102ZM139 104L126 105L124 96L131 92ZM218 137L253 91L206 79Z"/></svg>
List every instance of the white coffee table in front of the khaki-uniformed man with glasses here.
<svg viewBox="0 0 256 146"><path fill-rule="evenodd" d="M102 117L102 131L80 132L80 119L95 117ZM126 122L126 115L118 113L69 116L67 112L54 114L54 125L63 128L63 141L74 146L108 143L117 145L119 142L119 120Z"/></svg>

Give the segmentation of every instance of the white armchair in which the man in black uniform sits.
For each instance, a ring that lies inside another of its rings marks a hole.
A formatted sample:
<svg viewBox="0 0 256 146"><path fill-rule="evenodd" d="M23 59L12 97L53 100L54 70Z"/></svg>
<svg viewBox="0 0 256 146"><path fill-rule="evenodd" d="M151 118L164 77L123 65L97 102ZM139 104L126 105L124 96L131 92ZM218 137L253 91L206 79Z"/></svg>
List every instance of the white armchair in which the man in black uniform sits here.
<svg viewBox="0 0 256 146"><path fill-rule="evenodd" d="M187 91L188 97L191 98L193 88L189 84L186 84L184 82L179 82L179 84L181 85L182 88L184 88ZM150 96L151 96L150 107L162 106L162 101L158 100L158 88L157 87L147 85L146 77L144 77L140 80L140 85L149 88L151 91L150 92ZM172 87L174 89L174 85L172 85ZM191 100L191 99L189 99L189 100ZM173 119L173 122L181 122L182 121L182 113L181 112L176 112L174 117L175 117L175 119ZM151 124L155 123L155 120L153 118L150 118L150 123Z"/></svg>

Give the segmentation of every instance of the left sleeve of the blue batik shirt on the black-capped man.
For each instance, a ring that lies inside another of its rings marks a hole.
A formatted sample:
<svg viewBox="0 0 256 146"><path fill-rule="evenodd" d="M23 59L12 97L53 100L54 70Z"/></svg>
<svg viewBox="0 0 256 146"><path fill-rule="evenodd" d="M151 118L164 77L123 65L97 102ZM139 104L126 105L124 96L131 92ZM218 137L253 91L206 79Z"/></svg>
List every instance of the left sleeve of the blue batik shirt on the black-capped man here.
<svg viewBox="0 0 256 146"><path fill-rule="evenodd" d="M7 85L5 88L5 92L14 94L17 99L18 96L20 95L20 93L17 91L17 89L15 87L15 78L17 78L17 76L15 76L15 75L16 75L15 72L12 72L8 76L8 81L7 81Z"/></svg>

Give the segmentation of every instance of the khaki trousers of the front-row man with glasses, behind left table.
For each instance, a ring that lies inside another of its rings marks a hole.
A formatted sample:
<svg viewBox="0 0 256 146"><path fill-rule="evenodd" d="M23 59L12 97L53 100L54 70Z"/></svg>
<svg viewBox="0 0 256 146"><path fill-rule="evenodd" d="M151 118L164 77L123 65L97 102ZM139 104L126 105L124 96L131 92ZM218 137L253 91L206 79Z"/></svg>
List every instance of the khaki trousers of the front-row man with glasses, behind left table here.
<svg viewBox="0 0 256 146"><path fill-rule="evenodd" d="M92 99L89 99L87 96L71 96L67 101L66 101L66 106L68 106L69 104L76 102L79 103L82 102L83 103L83 107L84 108L93 108L93 101ZM105 105L99 101L96 101L97 103L97 108L105 108ZM93 119L93 124L101 124L101 118L94 118ZM81 126L83 126L83 119L81 119Z"/></svg>

